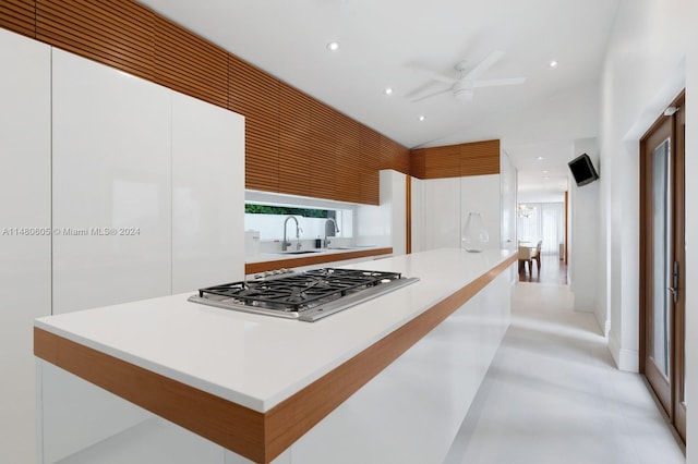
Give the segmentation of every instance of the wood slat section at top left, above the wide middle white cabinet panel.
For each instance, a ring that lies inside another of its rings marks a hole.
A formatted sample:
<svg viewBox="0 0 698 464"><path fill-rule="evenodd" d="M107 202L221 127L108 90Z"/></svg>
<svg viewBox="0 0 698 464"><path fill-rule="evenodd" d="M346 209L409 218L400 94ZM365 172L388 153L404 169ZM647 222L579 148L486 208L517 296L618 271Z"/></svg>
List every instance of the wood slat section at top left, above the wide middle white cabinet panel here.
<svg viewBox="0 0 698 464"><path fill-rule="evenodd" d="M37 0L36 38L153 81L155 13L131 1Z"/></svg>

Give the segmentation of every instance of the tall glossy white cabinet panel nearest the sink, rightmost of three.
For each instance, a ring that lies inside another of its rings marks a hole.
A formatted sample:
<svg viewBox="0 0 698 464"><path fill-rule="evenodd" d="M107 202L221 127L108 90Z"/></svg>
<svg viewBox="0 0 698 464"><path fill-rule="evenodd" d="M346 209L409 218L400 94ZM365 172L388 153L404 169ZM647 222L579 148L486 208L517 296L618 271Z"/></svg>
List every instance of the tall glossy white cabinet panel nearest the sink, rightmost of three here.
<svg viewBox="0 0 698 464"><path fill-rule="evenodd" d="M172 293L244 278L244 118L173 94Z"/></svg>

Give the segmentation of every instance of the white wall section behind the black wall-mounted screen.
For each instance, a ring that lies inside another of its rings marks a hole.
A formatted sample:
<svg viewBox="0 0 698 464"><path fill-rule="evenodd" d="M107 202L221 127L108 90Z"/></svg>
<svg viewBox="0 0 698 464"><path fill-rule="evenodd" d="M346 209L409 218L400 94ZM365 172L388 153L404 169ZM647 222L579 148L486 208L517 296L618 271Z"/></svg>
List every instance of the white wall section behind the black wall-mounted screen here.
<svg viewBox="0 0 698 464"><path fill-rule="evenodd" d="M599 148L595 138L575 141L574 157L589 155L598 171ZM601 173L600 173L601 175ZM578 187L570 181L569 203L569 246L574 252L569 259L569 285L574 292L575 310L594 313L599 327L605 330L605 312L601 314L598 303L599 268L599 182Z"/></svg>

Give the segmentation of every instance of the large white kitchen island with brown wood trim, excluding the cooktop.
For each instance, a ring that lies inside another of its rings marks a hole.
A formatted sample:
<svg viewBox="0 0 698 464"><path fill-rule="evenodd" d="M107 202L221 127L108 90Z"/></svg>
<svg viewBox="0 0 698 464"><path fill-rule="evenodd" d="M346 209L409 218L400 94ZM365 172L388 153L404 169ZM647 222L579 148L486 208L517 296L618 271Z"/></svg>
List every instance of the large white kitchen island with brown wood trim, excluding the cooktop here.
<svg viewBox="0 0 698 464"><path fill-rule="evenodd" d="M348 267L419 282L317 322L189 294L37 319L45 463L442 462L508 326L516 254Z"/></svg>

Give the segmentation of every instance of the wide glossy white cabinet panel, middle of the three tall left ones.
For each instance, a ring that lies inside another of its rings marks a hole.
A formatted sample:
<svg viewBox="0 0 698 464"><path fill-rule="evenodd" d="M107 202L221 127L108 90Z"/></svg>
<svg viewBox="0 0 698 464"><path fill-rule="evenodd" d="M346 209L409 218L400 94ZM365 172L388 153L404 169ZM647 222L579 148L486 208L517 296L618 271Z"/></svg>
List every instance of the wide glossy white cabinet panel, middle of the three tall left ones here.
<svg viewBox="0 0 698 464"><path fill-rule="evenodd" d="M53 50L53 312L171 292L171 93Z"/></svg>

